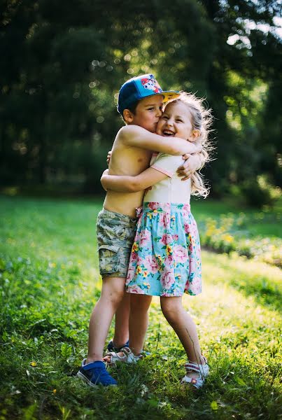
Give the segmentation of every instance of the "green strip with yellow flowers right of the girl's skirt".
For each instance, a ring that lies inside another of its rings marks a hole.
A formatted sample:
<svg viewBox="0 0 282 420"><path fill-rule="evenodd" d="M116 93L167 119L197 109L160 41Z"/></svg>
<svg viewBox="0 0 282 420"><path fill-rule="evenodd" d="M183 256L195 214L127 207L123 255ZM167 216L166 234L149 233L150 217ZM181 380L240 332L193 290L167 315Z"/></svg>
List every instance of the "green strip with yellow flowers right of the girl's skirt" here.
<svg viewBox="0 0 282 420"><path fill-rule="evenodd" d="M274 209L242 209L213 200L193 200L202 246L220 253L235 252L247 258L282 267L281 201Z"/></svg>

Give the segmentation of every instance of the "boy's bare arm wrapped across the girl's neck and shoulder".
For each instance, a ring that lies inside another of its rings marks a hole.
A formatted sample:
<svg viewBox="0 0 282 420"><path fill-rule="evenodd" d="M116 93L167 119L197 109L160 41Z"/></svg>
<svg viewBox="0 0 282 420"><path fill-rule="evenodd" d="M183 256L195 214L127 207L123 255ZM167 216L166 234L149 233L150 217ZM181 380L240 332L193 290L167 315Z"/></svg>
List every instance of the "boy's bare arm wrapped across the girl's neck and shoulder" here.
<svg viewBox="0 0 282 420"><path fill-rule="evenodd" d="M191 143L178 137L162 137L145 130L139 125L125 125L119 131L120 138L124 144L146 148L149 151L168 153L169 155L185 155L185 153L198 153L202 146L195 141Z"/></svg>

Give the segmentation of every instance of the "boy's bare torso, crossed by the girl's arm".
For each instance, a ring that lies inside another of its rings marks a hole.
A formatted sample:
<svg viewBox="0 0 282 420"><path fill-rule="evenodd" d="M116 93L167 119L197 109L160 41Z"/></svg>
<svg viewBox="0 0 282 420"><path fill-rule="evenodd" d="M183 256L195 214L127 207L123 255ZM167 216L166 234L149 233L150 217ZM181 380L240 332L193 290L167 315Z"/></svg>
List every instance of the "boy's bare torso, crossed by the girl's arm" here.
<svg viewBox="0 0 282 420"><path fill-rule="evenodd" d="M111 161L108 167L109 174L139 175L149 167L151 156L151 151L124 144L118 134L113 143ZM127 216L134 218L136 217L136 207L140 207L142 204L143 195L144 191L138 191L137 193L108 191L104 200L104 209L127 214Z"/></svg>

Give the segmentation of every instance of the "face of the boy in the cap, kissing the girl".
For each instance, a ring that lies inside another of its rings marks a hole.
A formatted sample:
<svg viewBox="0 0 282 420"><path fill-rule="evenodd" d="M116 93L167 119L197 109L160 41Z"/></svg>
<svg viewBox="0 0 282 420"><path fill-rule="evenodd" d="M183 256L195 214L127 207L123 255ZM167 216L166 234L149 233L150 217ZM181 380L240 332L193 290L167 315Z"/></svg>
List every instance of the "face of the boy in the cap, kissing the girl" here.
<svg viewBox="0 0 282 420"><path fill-rule="evenodd" d="M154 94L151 97L143 98L136 106L135 114L132 114L130 124L139 125L151 133L155 133L157 123L162 116L163 106L162 94Z"/></svg>

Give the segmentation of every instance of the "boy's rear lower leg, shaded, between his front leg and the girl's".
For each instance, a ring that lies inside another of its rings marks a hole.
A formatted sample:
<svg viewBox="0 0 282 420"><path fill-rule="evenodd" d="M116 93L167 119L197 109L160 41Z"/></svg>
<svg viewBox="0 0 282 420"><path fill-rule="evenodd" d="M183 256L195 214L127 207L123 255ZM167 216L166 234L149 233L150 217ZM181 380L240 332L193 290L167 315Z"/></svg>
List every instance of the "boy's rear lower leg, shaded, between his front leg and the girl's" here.
<svg viewBox="0 0 282 420"><path fill-rule="evenodd" d="M130 293L125 293L115 312L115 335L113 336L115 347L122 347L129 337L129 304Z"/></svg>

